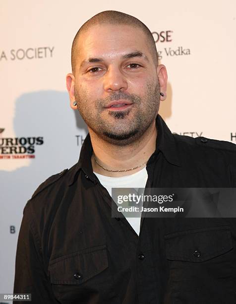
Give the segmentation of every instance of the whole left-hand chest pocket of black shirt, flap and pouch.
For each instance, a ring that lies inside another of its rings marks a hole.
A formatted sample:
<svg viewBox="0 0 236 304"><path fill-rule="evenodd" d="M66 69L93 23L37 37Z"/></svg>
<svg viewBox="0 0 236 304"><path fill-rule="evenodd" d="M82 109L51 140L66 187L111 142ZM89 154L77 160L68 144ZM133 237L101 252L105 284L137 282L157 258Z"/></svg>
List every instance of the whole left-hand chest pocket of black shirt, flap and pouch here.
<svg viewBox="0 0 236 304"><path fill-rule="evenodd" d="M59 303L114 303L114 279L106 245L51 260L49 275ZM100 303L100 302L99 302Z"/></svg>

